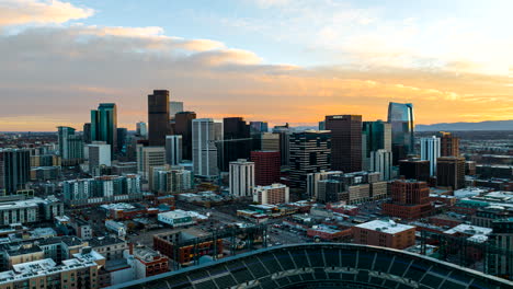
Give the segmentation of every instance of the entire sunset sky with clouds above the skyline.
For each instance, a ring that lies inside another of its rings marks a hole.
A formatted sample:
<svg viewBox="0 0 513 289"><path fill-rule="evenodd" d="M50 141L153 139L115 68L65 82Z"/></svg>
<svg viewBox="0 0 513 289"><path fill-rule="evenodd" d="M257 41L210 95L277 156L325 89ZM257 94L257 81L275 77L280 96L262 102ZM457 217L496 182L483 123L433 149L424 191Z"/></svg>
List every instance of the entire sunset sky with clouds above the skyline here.
<svg viewBox="0 0 513 289"><path fill-rule="evenodd" d="M0 0L0 131L81 129L168 89L198 117L513 119L509 0Z"/></svg>

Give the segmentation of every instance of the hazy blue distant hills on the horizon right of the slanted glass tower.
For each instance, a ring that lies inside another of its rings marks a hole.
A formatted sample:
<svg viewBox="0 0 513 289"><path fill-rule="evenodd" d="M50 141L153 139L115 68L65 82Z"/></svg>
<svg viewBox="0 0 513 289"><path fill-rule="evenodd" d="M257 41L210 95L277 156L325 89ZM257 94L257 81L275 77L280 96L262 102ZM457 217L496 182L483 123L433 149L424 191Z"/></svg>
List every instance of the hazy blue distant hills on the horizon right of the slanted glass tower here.
<svg viewBox="0 0 513 289"><path fill-rule="evenodd" d="M513 120L488 120L480 123L442 123L433 125L417 125L415 130L513 130Z"/></svg>

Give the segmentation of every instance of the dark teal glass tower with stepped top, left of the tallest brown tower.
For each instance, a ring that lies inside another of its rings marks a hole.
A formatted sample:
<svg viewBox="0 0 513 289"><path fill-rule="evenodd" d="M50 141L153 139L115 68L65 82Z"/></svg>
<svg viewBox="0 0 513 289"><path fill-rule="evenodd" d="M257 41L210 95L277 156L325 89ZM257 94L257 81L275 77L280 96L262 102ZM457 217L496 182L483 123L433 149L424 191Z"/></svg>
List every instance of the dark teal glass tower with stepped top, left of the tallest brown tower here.
<svg viewBox="0 0 513 289"><path fill-rule="evenodd" d="M111 158L117 152L117 108L114 103L101 103L91 111L91 141L111 144Z"/></svg>

